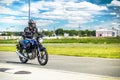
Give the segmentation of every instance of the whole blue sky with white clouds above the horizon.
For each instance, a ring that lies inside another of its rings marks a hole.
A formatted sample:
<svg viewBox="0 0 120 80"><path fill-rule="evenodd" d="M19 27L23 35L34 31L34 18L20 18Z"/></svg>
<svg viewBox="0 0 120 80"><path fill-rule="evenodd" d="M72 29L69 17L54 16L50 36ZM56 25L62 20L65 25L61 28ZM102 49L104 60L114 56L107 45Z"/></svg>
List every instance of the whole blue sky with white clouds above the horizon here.
<svg viewBox="0 0 120 80"><path fill-rule="evenodd" d="M28 26L29 0L0 0L0 31ZM120 0L31 0L31 19L40 30L120 27Z"/></svg>

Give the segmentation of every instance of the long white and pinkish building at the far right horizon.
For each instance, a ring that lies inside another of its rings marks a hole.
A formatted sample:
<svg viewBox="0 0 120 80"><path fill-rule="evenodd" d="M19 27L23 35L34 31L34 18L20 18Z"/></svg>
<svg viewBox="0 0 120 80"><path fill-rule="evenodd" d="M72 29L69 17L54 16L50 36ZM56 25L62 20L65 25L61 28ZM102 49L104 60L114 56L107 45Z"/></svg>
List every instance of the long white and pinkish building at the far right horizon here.
<svg viewBox="0 0 120 80"><path fill-rule="evenodd" d="M97 29L96 30L96 37L116 37L120 36L120 30L119 29Z"/></svg>

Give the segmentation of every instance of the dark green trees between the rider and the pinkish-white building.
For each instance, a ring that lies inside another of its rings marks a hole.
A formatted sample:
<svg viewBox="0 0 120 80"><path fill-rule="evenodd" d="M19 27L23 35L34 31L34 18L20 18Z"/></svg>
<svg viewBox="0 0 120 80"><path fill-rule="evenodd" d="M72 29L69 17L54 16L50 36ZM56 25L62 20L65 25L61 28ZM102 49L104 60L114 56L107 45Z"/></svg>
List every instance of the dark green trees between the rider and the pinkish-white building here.
<svg viewBox="0 0 120 80"><path fill-rule="evenodd" d="M96 32L95 30L64 30L62 28L59 28L55 31L45 31L43 32L44 35L47 36L52 36L53 34L57 35L57 36L64 36L65 33L69 34L69 36L95 36Z"/></svg>

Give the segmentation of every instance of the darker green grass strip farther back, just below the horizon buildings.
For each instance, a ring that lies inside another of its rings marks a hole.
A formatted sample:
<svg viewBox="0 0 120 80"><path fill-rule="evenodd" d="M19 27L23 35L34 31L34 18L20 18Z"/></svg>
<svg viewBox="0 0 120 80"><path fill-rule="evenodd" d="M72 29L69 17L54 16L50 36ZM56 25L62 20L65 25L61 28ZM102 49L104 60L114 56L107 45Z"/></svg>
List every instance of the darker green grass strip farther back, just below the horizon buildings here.
<svg viewBox="0 0 120 80"><path fill-rule="evenodd" d="M0 44L16 44L17 40L0 40ZM120 43L120 37L96 38L62 38L62 39L44 39L44 43L93 43L93 44L112 44Z"/></svg>

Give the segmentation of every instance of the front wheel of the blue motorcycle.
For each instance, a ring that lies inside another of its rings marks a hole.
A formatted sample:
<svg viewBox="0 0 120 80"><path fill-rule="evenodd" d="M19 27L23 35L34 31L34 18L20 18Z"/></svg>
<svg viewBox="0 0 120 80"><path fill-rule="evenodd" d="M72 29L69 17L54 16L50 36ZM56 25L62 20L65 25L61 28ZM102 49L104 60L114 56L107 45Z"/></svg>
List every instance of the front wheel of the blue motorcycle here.
<svg viewBox="0 0 120 80"><path fill-rule="evenodd" d="M38 62L40 65L44 66L48 62L48 52L46 49L39 52L38 56Z"/></svg>

